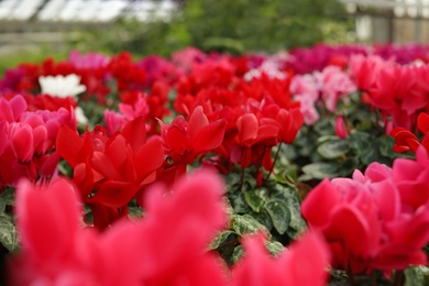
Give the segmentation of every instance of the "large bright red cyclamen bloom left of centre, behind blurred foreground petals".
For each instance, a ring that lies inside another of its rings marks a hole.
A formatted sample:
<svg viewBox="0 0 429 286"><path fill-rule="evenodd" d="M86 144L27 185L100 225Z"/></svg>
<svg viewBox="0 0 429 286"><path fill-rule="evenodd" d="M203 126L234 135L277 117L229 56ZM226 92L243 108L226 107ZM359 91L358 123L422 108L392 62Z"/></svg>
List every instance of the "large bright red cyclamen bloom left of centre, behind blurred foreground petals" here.
<svg viewBox="0 0 429 286"><path fill-rule="evenodd" d="M142 118L130 121L112 136L105 128L96 127L79 138L63 125L56 148L74 168L73 179L100 229L127 216L128 202L155 180L155 172L164 162L163 142L157 136L146 140Z"/></svg>

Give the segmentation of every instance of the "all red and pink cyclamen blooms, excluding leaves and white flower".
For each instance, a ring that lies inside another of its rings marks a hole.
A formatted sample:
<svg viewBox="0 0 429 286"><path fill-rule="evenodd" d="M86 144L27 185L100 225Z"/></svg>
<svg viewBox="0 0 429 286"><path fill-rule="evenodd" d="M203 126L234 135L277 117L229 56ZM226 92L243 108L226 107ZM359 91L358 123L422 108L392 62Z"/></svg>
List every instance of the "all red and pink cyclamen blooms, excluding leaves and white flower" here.
<svg viewBox="0 0 429 286"><path fill-rule="evenodd" d="M22 239L11 279L321 285L330 256L333 267L354 273L425 264L429 117L417 117L428 111L429 68L349 52L306 75L292 65L297 51L233 57L194 48L172 61L73 53L65 62L9 70L0 80L0 187L18 186ZM40 78L57 75L77 76L85 86L79 101L41 95ZM337 117L337 135L345 139L337 106L356 90L380 110L386 131L395 128L395 151L413 150L417 160L397 160L393 168L374 163L353 179L323 180L302 202L312 230L301 242L272 258L263 235L246 239L246 255L228 270L206 250L226 227L223 186L205 172L185 182L189 165L223 175L254 167L262 185L264 172L273 170L273 147L294 143L320 109ZM103 121L79 133L75 108L91 98L106 108ZM416 121L421 144L411 133ZM70 180L58 176L61 160L72 167ZM164 188L150 186L156 184ZM79 222L77 201L90 207L95 228ZM144 219L127 219L130 202L144 208Z"/></svg>

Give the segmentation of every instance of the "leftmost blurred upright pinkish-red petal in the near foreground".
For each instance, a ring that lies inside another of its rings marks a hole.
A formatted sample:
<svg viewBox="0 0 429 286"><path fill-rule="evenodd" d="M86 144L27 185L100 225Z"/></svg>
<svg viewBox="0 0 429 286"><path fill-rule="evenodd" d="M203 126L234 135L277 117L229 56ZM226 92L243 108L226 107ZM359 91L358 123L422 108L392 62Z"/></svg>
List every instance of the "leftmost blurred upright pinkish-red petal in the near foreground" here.
<svg viewBox="0 0 429 286"><path fill-rule="evenodd" d="M43 191L25 183L16 190L18 228L25 250L38 261L59 261L73 249L79 208L75 190L56 179Z"/></svg>

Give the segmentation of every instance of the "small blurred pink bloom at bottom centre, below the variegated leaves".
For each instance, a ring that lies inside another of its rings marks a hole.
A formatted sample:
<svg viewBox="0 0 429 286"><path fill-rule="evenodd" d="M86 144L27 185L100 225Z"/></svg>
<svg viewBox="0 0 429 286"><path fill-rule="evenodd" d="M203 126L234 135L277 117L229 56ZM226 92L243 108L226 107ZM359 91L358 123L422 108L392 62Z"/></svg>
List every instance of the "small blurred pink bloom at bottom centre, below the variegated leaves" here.
<svg viewBox="0 0 429 286"><path fill-rule="evenodd" d="M232 272L233 286L326 285L329 251L316 232L306 233L277 257L267 254L261 234L245 238L243 245L244 257Z"/></svg>

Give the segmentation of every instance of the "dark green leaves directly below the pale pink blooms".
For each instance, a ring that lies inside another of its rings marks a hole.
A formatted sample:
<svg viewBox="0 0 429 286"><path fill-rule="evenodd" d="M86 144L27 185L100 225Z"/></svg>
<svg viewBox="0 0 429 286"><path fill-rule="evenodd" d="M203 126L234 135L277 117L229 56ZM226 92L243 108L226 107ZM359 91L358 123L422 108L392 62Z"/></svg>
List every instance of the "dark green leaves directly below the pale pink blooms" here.
<svg viewBox="0 0 429 286"><path fill-rule="evenodd" d="M397 157L413 154L395 153L395 140L385 134L380 114L371 112L359 95L351 95L350 105L340 105L338 114L345 118L351 128L346 139L334 133L336 114L320 109L320 119L314 125L301 128L294 144L282 150L282 156L296 164L298 182L310 188L323 178L351 177L354 169L364 172L373 162L392 166Z"/></svg>

